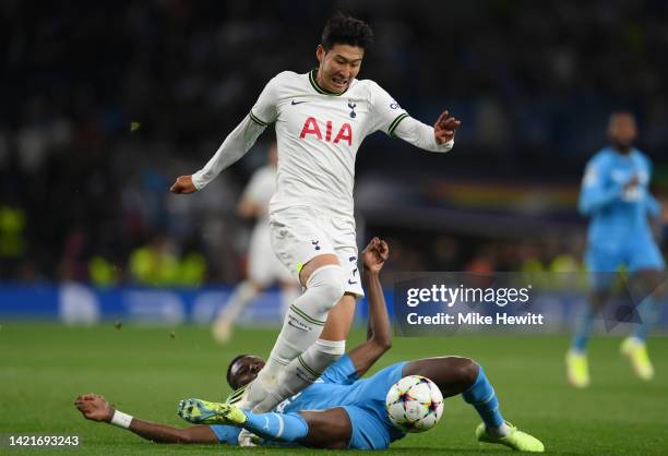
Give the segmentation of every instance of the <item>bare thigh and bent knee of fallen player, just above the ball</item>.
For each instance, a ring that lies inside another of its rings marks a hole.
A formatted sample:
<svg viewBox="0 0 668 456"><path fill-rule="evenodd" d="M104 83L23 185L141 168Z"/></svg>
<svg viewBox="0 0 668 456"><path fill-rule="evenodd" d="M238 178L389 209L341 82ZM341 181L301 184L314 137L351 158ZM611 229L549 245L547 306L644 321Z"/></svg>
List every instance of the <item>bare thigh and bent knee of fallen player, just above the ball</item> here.
<svg viewBox="0 0 668 456"><path fill-rule="evenodd" d="M426 376L439 386L443 397L451 397L468 389L478 377L478 364L468 358L438 357L406 363L402 375Z"/></svg>

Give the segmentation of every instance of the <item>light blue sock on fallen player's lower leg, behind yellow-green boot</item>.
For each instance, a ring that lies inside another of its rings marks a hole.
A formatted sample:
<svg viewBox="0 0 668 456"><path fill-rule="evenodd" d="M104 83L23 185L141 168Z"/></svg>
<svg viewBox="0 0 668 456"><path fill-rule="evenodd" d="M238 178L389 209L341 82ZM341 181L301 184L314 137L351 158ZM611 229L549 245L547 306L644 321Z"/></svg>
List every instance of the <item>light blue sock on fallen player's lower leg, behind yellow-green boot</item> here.
<svg viewBox="0 0 668 456"><path fill-rule="evenodd" d="M259 413L246 411L242 428L261 437L281 442L295 442L309 433L309 425L299 413Z"/></svg>

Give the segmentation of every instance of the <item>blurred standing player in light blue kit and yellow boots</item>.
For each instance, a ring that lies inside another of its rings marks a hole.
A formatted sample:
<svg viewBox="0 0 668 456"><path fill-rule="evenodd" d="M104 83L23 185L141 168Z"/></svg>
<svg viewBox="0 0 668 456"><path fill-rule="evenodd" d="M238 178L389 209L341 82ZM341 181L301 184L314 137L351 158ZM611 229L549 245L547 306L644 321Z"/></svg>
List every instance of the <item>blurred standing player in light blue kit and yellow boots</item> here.
<svg viewBox="0 0 668 456"><path fill-rule="evenodd" d="M593 291L566 355L566 376L576 387L589 384L586 348L593 319L608 300L620 266L631 274L631 296L641 301L632 304L637 304L642 322L633 336L622 343L621 351L641 379L654 376L645 340L658 317L665 263L647 218L658 217L660 205L648 190L649 159L633 147L636 136L633 115L613 112L608 134L612 145L588 161L580 194L580 211L592 217L585 262Z"/></svg>

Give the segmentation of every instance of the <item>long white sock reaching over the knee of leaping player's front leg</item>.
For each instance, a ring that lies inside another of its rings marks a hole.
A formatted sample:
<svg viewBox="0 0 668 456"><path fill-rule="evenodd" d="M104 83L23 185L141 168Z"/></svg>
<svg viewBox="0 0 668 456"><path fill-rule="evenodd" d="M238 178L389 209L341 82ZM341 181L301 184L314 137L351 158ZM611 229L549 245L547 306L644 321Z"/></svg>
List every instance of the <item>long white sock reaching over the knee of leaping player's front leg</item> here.
<svg viewBox="0 0 668 456"><path fill-rule="evenodd" d="M343 284L338 265L322 266L311 274L306 291L289 305L270 359L258 375L264 385L273 384L278 372L318 339L330 309L344 293Z"/></svg>

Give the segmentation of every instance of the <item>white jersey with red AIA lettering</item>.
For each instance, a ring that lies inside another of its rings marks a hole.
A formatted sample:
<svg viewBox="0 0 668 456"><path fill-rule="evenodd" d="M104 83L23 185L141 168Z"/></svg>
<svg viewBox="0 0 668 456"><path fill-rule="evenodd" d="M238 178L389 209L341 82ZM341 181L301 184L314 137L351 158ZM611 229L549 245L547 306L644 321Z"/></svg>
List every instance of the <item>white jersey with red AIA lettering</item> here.
<svg viewBox="0 0 668 456"><path fill-rule="evenodd" d="M250 117L276 124L277 192L270 212L312 206L353 217L355 158L366 136L392 135L408 115L373 81L353 80L332 94L307 74L285 71L269 82Z"/></svg>

